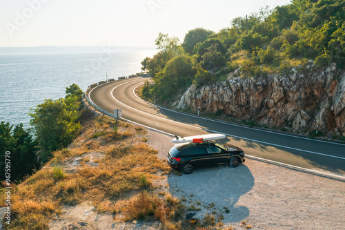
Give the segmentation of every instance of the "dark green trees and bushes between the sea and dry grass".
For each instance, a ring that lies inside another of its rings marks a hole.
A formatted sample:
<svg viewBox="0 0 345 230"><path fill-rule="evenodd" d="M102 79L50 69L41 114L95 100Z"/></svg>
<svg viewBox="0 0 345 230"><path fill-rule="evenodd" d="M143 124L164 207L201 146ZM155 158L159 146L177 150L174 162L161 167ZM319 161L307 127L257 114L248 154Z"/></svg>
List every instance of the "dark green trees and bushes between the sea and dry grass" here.
<svg viewBox="0 0 345 230"><path fill-rule="evenodd" d="M34 169L48 162L52 152L70 144L81 128L83 114L81 97L83 91L76 84L66 88L66 97L53 101L46 99L32 109L30 124L25 130L23 124L13 128L9 122L0 123L0 158L5 159L6 151L15 161L11 162L11 182L19 182ZM5 160L0 162L0 171L5 171ZM5 180L5 173L0 180Z"/></svg>

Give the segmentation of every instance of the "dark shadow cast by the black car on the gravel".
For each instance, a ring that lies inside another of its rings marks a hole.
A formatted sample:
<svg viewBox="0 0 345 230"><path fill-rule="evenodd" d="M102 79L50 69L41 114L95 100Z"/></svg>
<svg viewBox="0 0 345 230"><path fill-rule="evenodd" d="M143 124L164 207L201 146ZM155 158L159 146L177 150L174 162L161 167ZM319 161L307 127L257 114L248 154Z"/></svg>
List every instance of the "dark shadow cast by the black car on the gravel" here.
<svg viewBox="0 0 345 230"><path fill-rule="evenodd" d="M212 168L195 169L189 175L168 175L169 191L181 200L186 198L186 207L201 208L195 211L202 220L206 213L224 215L223 222L239 222L248 217L247 207L237 205L239 198L254 186L254 177L245 164L231 168L219 164ZM191 201L191 202L190 202Z"/></svg>

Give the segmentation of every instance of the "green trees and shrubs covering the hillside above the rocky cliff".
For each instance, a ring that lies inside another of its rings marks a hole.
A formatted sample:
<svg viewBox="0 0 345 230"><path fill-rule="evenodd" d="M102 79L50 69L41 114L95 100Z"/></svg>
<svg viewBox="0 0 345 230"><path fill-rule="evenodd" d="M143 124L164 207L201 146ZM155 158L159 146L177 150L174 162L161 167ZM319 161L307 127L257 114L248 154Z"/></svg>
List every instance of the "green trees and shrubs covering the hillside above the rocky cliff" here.
<svg viewBox="0 0 345 230"><path fill-rule="evenodd" d="M217 82L237 69L242 77L266 77L306 66L309 59L320 69L332 62L344 68L344 17L344 0L294 0L262 8L248 19L237 17L219 32L190 30L182 43L160 33L158 52L141 62L155 84L146 84L141 93L169 103L190 84Z"/></svg>

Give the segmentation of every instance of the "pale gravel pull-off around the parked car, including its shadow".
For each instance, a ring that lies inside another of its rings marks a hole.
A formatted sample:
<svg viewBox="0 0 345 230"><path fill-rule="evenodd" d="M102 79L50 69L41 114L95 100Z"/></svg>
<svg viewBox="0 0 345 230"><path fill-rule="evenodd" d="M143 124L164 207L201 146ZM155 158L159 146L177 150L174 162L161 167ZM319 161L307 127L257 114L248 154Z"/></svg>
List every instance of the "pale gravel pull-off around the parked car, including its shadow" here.
<svg viewBox="0 0 345 230"><path fill-rule="evenodd" d="M166 159L172 137L148 131L148 139ZM200 209L191 211L195 218L223 216L224 228L344 229L345 182L339 180L246 158L235 169L197 169L161 183L187 207Z"/></svg>

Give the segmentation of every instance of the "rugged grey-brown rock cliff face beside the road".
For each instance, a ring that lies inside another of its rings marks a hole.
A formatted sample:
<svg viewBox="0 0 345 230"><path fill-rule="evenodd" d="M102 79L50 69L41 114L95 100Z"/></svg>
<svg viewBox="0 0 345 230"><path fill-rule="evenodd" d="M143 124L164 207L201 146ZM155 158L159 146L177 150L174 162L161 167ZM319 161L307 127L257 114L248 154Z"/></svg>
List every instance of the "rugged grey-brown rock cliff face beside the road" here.
<svg viewBox="0 0 345 230"><path fill-rule="evenodd" d="M308 66L266 78L242 79L238 74L238 70L230 73L226 81L212 86L190 86L177 108L221 110L262 125L345 135L345 72L335 64L315 70L310 60Z"/></svg>

